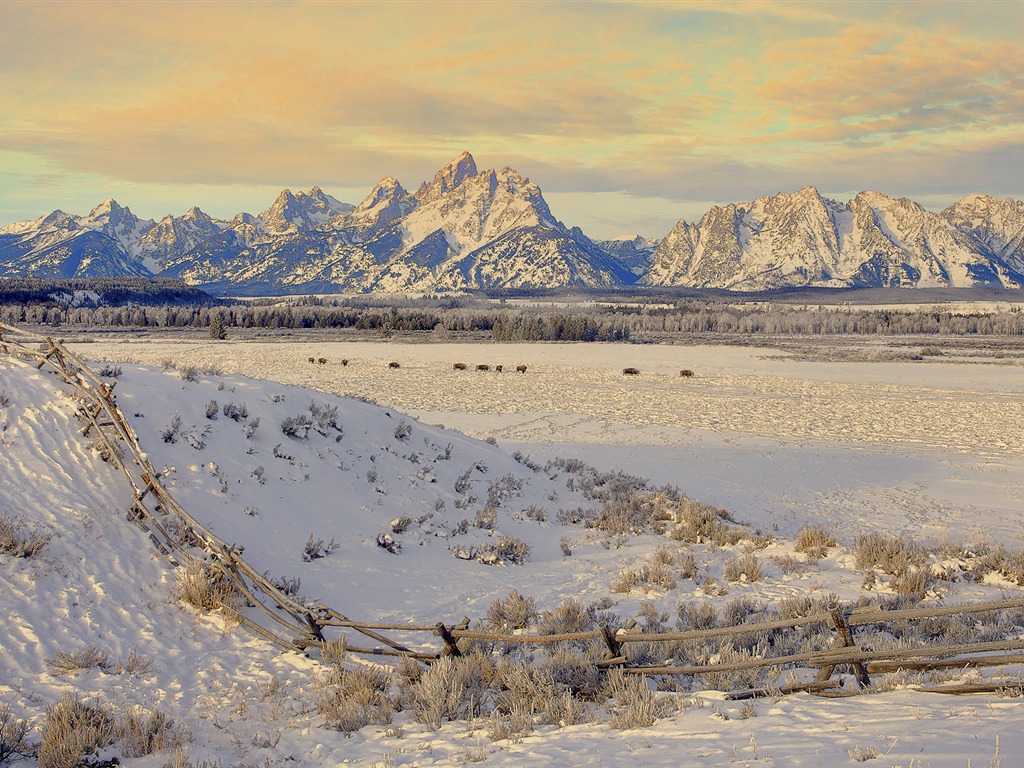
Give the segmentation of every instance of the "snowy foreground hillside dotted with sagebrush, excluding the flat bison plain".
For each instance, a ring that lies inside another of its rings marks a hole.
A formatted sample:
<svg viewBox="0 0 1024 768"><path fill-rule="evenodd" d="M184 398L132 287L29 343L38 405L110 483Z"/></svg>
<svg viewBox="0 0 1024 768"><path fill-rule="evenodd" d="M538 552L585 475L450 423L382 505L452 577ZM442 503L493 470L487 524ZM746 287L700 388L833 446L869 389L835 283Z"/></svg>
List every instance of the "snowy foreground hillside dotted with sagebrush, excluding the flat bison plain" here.
<svg viewBox="0 0 1024 768"><path fill-rule="evenodd" d="M186 509L297 595L367 621L465 615L471 626L487 626L492 607L516 590L536 600L534 623L565 621L571 613L561 606L575 598L581 621L633 618L651 631L692 626L700 615L757 617L805 598L891 599L898 589L880 568L869 570L868 584L856 564L854 530L836 529L838 543L811 557L795 541L739 523L728 524L739 534L732 543L682 542L643 518L613 529L612 520L600 521L602 510L615 508L602 497L650 498L642 481L614 471L517 459L388 408L213 370L110 365L105 373ZM382 367L378 376L390 375L401 373ZM794 694L756 702L727 701L705 688L712 681L680 680L674 685L686 689L658 692L652 700L660 719L641 730L616 721L624 705L614 697L584 699L562 722L538 715L527 725L503 709L498 692L477 702L475 719L436 727L416 714L417 689L395 671L388 695L397 709L349 733L325 703L340 689L328 668L282 654L226 616L174 598L174 572L125 519L124 479L89 447L63 386L4 356L0 393L0 513L17 521L20 535L45 542L31 557L0 551L0 703L36 737L46 708L72 692L174 719L177 730L148 756L128 754L126 737L102 752L146 768L171 761L175 743L197 765L325 766L675 766L685 752L695 766L837 765L884 754L886 765L963 768L1024 746L1013 726L1021 699L965 701L911 690L977 679L977 671L880 678L888 692L850 699ZM658 498L675 504L671 490ZM380 534L400 550L378 546ZM324 556L303 556L310 535L324 542ZM518 544L497 547L505 537ZM1019 594L1007 578L981 569L982 560L995 562L982 550L953 551L928 552L925 604ZM761 573L730 575L744 557ZM979 626L990 636L1019 634L1015 621ZM103 658L69 658L89 649ZM500 655L496 664L503 657L519 658ZM535 664L561 669L556 658L538 651ZM343 659L348 670L367 665L351 653Z"/></svg>

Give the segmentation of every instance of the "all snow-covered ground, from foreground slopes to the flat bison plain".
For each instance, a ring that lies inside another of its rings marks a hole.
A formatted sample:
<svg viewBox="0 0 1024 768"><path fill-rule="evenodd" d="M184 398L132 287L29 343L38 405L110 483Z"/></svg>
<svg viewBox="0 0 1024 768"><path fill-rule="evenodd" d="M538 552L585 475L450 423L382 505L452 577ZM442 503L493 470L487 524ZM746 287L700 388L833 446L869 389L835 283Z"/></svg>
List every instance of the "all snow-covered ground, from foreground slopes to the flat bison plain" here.
<svg viewBox="0 0 1024 768"><path fill-rule="evenodd" d="M1024 376L1016 366L818 364L742 347L323 337L100 339L73 348L121 367L121 409L186 509L243 544L257 569L300 578L303 595L359 618L465 615L476 625L516 589L542 609L567 597L584 605L606 599L641 622L641 604L650 603L646 610L668 611L672 626L677 606L690 601L891 594L887 578L868 589L854 566L852 545L864 531L936 548L1024 547ZM310 356L328 362L309 364ZM392 360L400 367L389 369ZM165 361L176 368L164 370ZM470 370L454 371L458 361ZM473 370L479 364L504 372ZM526 373L515 373L517 365ZM189 367L198 374L183 378ZM626 367L641 373L623 376ZM681 369L694 376L680 377ZM911 688L925 678L914 676L895 690L842 699L801 693L751 705L717 691L664 692L671 714L642 730L611 728L601 708L593 722L539 725L514 740L492 740L485 719L432 730L409 711L352 735L326 728L312 690L317 664L172 598L170 568L125 521L124 480L76 431L74 403L56 380L0 357L0 512L50 535L35 557L0 553L0 702L36 726L47 705L76 691L168 713L190 731L196 765L831 766L874 755L871 762L887 767L963 768L1012 765L1024 754L1020 698L922 693ZM243 407L244 416L230 418ZM299 434L285 434L282 425L300 416L310 426L298 420ZM488 437L497 446L474 439ZM536 465L579 458L726 508L774 532L756 553L764 575L728 582L724 563L742 546L698 545L691 548L698 579L613 591L623 568L648 562L671 541L559 524L559 510L588 501L565 472L530 470L512 452ZM497 501L495 531L473 524L487 501ZM395 535L401 552L390 554L375 538L402 515L413 521ZM465 531L462 518L471 523ZM791 571L781 563L807 523L835 531L843 546ZM339 547L303 561L310 534ZM528 561L495 566L453 555L499 535L528 544ZM709 595L707 579L725 594ZM1020 594L990 574L936 581L927 599ZM105 670L51 674L47 659L58 650L88 646L109 655ZM150 659L148 669L120 671L133 652ZM170 759L165 751L124 762Z"/></svg>

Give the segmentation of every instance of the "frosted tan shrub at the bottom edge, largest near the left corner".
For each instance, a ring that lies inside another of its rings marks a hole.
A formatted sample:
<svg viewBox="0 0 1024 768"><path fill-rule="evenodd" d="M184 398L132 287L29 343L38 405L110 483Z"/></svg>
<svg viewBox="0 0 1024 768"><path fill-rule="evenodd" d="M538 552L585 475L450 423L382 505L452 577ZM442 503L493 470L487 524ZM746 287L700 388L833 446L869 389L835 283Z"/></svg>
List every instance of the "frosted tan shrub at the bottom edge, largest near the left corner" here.
<svg viewBox="0 0 1024 768"><path fill-rule="evenodd" d="M43 741L36 753L39 768L78 768L85 759L114 742L114 718L99 706L71 693L46 708Z"/></svg>

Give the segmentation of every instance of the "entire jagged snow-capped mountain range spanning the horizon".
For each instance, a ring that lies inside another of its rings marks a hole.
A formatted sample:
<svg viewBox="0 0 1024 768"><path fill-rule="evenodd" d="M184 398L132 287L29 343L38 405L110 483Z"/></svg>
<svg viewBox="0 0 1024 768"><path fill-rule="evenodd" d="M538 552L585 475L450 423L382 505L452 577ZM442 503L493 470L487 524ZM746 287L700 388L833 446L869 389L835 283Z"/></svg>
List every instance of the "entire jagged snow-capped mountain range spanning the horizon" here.
<svg viewBox="0 0 1024 768"><path fill-rule="evenodd" d="M224 294L793 286L1024 285L1024 203L973 195L942 213L811 186L712 208L664 239L595 243L511 168L463 153L409 193L382 179L356 206L285 189L259 215L191 208L140 220L108 200L0 227L0 276L160 275Z"/></svg>

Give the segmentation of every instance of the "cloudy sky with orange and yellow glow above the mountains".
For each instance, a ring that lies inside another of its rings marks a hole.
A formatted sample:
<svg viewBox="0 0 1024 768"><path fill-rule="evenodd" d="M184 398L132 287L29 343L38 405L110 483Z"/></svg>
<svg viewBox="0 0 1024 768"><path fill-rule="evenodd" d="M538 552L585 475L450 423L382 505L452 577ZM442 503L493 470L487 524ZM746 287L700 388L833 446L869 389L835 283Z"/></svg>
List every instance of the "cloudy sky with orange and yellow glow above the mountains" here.
<svg viewBox="0 0 1024 768"><path fill-rule="evenodd" d="M467 150L598 239L807 184L1019 200L1022 32L1019 0L0 0L0 224L356 204Z"/></svg>

